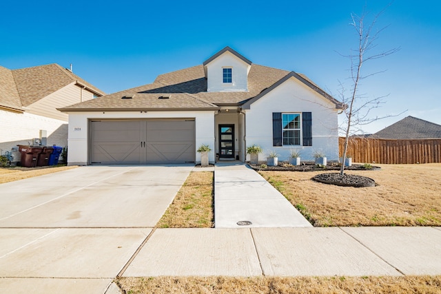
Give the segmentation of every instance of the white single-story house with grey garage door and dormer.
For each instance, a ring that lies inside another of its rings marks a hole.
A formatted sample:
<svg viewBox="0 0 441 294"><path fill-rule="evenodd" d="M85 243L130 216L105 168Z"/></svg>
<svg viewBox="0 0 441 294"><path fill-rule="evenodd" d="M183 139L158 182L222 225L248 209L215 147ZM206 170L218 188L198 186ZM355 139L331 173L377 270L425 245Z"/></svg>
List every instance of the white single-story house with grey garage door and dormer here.
<svg viewBox="0 0 441 294"><path fill-rule="evenodd" d="M70 165L245 161L259 145L286 160L322 151L338 160L343 105L306 76L257 65L232 48L148 85L59 110L69 114Z"/></svg>

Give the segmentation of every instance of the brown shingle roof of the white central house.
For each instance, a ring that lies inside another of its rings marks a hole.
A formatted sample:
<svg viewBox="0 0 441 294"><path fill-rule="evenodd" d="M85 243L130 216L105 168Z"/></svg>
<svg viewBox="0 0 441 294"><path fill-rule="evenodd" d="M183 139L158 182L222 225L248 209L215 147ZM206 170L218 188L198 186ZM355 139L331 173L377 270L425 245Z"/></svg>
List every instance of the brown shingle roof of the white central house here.
<svg viewBox="0 0 441 294"><path fill-rule="evenodd" d="M229 47L224 48L214 56L219 56L225 51L230 51L240 58L240 54ZM212 61L214 56L207 59L204 64ZM242 56L243 57L243 56ZM245 59L245 57L243 57ZM278 70L273 67L257 65L245 59L251 64L248 74L248 92L207 92L207 78L205 78L204 64L188 67L167 74L159 75L155 81L148 85L134 87L132 89L102 96L93 101L85 101L60 108L62 112L83 111L121 111L127 110L184 110L184 109L219 109L221 106L244 105L252 98L256 98L264 90L271 86L276 87L287 78L294 76L305 85L311 87L318 94L329 99L342 108L342 103L336 101L325 91L312 83L306 76ZM285 79L284 79L285 78ZM162 94L171 94L168 99L158 99ZM131 99L123 98L130 96Z"/></svg>

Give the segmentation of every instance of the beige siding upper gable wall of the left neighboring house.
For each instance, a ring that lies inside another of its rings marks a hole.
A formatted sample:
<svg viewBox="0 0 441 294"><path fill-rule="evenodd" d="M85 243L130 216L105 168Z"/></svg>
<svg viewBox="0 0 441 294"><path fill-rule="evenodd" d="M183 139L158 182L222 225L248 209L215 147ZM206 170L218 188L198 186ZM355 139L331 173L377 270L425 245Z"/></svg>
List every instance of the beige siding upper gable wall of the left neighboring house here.
<svg viewBox="0 0 441 294"><path fill-rule="evenodd" d="M53 92L52 94L40 99L39 101L32 103L27 108L26 112L30 114L37 114L39 116L47 116L49 118L55 118L58 120L69 120L68 114L63 114L56 109L59 107L65 107L75 103L88 101L93 98L93 93L88 90L71 83L60 90Z"/></svg>

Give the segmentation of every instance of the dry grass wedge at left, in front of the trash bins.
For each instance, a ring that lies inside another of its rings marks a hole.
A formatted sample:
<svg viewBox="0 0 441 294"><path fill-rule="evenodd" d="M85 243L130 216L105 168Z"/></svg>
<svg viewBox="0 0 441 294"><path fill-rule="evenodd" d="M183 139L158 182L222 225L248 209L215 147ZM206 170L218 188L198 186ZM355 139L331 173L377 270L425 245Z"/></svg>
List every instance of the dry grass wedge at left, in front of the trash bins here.
<svg viewBox="0 0 441 294"><path fill-rule="evenodd" d="M35 176L52 174L57 171L74 169L76 166L66 167L0 167L0 184L3 182L12 182L14 180L23 180Z"/></svg>

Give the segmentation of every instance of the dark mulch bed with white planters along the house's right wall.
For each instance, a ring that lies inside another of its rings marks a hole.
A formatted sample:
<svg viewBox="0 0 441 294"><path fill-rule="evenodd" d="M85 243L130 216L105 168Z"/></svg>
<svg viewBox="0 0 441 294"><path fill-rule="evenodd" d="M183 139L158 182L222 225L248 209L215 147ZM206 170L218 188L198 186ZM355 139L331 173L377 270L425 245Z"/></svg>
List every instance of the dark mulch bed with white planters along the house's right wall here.
<svg viewBox="0 0 441 294"><path fill-rule="evenodd" d="M262 167L262 165L251 165L249 167L256 171L340 171L340 165L338 163L329 163L326 166L319 166L314 163L302 163L302 165L287 165L285 163L280 163L273 166ZM379 170L380 167L371 166L371 168L366 168L365 165L352 165L351 167L345 167L346 171L375 171Z"/></svg>

